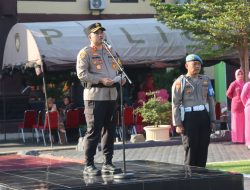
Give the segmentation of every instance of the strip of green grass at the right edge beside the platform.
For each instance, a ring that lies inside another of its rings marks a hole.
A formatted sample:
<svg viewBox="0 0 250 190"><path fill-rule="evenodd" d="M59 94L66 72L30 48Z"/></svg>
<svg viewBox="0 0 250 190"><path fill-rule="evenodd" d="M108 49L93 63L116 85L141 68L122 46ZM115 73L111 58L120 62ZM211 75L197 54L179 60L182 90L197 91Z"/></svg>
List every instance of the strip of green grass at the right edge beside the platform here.
<svg viewBox="0 0 250 190"><path fill-rule="evenodd" d="M250 174L250 160L221 162L221 163L208 163L207 169L222 170L228 172L238 172Z"/></svg>

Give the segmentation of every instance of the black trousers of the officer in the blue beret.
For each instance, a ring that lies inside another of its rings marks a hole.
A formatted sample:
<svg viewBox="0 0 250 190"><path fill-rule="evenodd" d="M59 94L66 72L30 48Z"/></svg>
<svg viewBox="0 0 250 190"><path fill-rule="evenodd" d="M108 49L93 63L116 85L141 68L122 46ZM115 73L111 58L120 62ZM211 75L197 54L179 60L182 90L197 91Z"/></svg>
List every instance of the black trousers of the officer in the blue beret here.
<svg viewBox="0 0 250 190"><path fill-rule="evenodd" d="M183 125L184 164L205 167L211 134L208 112L206 110L186 112Z"/></svg>

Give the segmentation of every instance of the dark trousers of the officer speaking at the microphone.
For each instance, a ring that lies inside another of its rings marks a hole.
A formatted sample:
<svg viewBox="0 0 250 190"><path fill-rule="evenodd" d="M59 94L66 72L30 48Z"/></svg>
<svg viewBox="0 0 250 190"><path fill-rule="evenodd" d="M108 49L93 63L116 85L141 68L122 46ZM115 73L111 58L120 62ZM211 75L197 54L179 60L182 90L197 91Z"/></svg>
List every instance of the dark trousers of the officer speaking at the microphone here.
<svg viewBox="0 0 250 190"><path fill-rule="evenodd" d="M94 155L101 136L105 159L112 159L115 134L116 101L84 101L87 132L84 152L88 164L94 163Z"/></svg>

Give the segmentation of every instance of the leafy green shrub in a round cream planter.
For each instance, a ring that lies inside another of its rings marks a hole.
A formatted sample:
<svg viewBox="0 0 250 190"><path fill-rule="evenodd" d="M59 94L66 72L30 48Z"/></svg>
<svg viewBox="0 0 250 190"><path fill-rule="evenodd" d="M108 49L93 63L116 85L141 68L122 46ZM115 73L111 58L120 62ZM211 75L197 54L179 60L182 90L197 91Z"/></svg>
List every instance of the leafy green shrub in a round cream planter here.
<svg viewBox="0 0 250 190"><path fill-rule="evenodd" d="M135 110L136 114L141 114L146 131L146 141L165 141L169 140L169 130L172 123L171 103L156 97L155 92L147 93L148 101Z"/></svg>

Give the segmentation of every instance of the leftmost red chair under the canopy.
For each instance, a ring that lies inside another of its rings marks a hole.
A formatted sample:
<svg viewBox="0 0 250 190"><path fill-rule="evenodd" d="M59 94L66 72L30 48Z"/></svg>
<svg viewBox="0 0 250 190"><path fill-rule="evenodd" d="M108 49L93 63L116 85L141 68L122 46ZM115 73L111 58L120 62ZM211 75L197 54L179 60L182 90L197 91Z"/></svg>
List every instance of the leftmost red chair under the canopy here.
<svg viewBox="0 0 250 190"><path fill-rule="evenodd" d="M22 132L23 142L25 143L24 130L29 129L33 132L33 125L36 123L36 111L35 110L26 110L24 111L24 119L18 128Z"/></svg>

